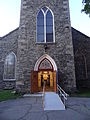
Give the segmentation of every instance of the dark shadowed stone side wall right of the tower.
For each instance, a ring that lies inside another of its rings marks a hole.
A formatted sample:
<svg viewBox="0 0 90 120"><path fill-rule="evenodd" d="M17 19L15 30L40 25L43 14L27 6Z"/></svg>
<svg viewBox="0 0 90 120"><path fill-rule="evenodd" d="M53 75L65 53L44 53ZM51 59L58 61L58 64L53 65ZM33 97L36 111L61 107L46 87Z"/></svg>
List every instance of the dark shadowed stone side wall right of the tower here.
<svg viewBox="0 0 90 120"><path fill-rule="evenodd" d="M90 89L90 37L72 28L72 38L77 88Z"/></svg>

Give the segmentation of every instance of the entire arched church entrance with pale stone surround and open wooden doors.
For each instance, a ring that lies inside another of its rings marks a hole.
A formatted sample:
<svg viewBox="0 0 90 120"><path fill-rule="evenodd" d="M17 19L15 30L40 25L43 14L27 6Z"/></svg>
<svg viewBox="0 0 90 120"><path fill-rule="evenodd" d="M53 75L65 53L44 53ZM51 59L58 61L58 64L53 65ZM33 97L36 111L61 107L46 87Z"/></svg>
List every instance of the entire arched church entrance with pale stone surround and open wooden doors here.
<svg viewBox="0 0 90 120"><path fill-rule="evenodd" d="M42 92L44 85L45 91L56 92L56 71L57 66L55 61L47 54L41 56L37 60L31 75L31 92Z"/></svg>

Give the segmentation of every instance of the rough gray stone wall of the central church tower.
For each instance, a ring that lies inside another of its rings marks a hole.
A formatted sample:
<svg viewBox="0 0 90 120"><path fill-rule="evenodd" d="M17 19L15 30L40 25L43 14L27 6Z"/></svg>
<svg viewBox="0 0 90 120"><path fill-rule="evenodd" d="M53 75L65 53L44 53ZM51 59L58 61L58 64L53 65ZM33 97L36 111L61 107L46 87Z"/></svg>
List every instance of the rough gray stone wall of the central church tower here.
<svg viewBox="0 0 90 120"><path fill-rule="evenodd" d="M55 43L36 43L36 16L43 7L54 13ZM46 47L47 46L47 49ZM53 52L52 52L53 51ZM30 73L36 61L44 54L50 55L58 66L59 84L67 91L76 87L73 45L68 0L23 0L18 39L17 88L30 91Z"/></svg>

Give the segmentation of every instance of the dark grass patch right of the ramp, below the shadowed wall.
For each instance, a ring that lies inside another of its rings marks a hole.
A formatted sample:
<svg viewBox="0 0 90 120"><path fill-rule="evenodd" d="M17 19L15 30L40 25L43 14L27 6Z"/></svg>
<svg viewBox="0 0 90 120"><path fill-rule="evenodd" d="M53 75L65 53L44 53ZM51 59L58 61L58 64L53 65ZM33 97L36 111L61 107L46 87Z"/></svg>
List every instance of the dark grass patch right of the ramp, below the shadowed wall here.
<svg viewBox="0 0 90 120"><path fill-rule="evenodd" d="M90 98L90 90L81 90L77 93L72 94L73 97L88 97Z"/></svg>

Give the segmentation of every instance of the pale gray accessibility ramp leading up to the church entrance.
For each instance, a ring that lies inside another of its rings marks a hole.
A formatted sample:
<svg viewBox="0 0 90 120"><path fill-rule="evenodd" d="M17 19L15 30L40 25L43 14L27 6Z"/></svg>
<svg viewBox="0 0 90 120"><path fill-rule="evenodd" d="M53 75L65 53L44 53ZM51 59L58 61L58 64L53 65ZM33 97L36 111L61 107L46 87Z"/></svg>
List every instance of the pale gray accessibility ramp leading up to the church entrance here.
<svg viewBox="0 0 90 120"><path fill-rule="evenodd" d="M65 106L58 94L55 92L45 92L44 110L65 110Z"/></svg>

